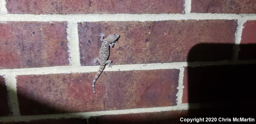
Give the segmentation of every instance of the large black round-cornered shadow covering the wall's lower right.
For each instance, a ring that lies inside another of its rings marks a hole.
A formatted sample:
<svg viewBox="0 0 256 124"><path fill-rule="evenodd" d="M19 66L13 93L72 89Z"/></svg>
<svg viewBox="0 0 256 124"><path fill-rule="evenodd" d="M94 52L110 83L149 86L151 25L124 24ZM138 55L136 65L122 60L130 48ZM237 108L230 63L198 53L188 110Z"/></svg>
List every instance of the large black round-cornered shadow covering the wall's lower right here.
<svg viewBox="0 0 256 124"><path fill-rule="evenodd" d="M233 46L202 43L190 50L189 67L184 71L184 90L188 92L183 95L183 103L192 103L190 117L217 118L217 122L221 118L223 123L234 123L233 118L256 119L256 44L235 46L240 47L238 62L229 61ZM220 62L218 66L196 66L195 61ZM201 109L193 109L196 107Z"/></svg>

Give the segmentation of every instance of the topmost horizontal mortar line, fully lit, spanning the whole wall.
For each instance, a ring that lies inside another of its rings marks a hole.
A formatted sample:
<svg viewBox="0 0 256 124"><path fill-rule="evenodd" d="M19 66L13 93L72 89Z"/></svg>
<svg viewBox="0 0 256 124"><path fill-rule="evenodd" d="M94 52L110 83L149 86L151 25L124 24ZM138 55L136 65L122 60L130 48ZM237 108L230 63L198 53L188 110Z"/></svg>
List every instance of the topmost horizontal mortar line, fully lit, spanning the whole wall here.
<svg viewBox="0 0 256 124"><path fill-rule="evenodd" d="M2 14L0 21L161 21L161 20L204 20L204 19L244 19L256 20L256 14L187 13L187 14Z"/></svg>

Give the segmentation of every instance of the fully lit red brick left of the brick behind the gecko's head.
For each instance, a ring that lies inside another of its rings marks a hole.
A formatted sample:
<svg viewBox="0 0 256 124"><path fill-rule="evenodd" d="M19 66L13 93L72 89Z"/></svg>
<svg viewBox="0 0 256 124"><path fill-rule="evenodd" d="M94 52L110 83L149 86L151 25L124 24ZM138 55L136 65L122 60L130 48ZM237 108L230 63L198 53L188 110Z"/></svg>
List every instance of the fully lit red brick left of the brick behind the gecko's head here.
<svg viewBox="0 0 256 124"><path fill-rule="evenodd" d="M66 22L0 23L0 69L68 65Z"/></svg>

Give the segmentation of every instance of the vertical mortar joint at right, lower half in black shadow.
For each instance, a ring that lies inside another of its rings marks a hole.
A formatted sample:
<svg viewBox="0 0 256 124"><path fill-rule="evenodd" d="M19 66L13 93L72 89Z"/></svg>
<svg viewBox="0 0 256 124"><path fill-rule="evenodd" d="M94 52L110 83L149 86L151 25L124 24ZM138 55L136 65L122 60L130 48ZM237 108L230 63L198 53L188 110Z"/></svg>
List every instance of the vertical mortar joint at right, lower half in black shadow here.
<svg viewBox="0 0 256 124"><path fill-rule="evenodd" d="M240 51L239 45L242 39L242 32L243 32L243 28L244 28L244 23L246 22L246 19L237 19L237 28L236 28L236 33L235 33L235 45L233 46L233 57L232 60L238 60L238 54Z"/></svg>

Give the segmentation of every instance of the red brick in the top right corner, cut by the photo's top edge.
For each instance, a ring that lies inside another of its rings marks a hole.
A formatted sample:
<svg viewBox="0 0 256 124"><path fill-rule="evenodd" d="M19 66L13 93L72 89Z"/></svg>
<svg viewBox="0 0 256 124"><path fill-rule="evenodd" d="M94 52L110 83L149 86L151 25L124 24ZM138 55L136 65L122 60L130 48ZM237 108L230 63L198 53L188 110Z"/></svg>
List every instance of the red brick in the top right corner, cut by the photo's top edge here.
<svg viewBox="0 0 256 124"><path fill-rule="evenodd" d="M256 0L192 0L195 13L256 13Z"/></svg>

